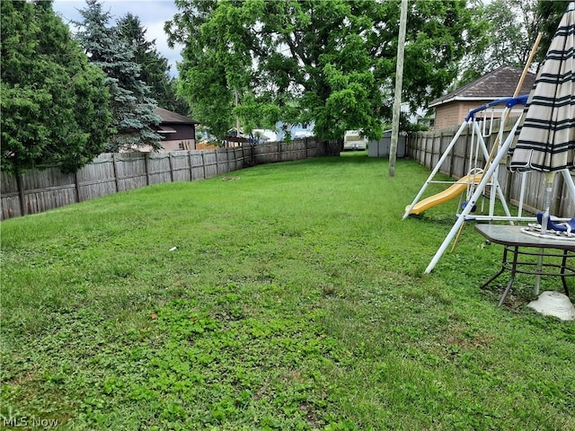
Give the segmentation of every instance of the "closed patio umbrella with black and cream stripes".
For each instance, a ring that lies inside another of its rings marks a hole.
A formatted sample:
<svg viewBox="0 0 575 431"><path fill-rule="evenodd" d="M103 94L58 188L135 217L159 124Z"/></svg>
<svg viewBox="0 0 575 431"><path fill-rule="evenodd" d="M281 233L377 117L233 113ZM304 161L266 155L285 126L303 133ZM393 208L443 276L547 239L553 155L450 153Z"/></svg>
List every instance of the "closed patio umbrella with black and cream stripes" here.
<svg viewBox="0 0 575 431"><path fill-rule="evenodd" d="M509 149L510 171L575 169L575 3L569 4L535 79Z"/></svg>

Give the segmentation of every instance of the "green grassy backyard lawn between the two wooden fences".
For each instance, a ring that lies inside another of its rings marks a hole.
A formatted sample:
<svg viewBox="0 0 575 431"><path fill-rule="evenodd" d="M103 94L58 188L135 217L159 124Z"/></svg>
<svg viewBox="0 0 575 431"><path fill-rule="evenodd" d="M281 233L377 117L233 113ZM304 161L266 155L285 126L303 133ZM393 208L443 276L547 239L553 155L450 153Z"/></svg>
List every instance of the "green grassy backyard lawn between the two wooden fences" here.
<svg viewBox="0 0 575 431"><path fill-rule="evenodd" d="M575 429L575 324L528 277L498 308L473 224L424 276L457 203L402 220L429 171L387 172L343 154L3 222L0 428Z"/></svg>

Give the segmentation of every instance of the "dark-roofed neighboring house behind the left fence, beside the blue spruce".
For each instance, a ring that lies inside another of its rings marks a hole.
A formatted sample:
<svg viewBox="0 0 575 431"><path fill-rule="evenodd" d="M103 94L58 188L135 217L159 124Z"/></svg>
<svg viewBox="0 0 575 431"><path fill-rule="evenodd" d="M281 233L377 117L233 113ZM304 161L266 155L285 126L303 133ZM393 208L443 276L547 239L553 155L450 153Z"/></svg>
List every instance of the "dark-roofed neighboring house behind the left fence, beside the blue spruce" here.
<svg viewBox="0 0 575 431"><path fill-rule="evenodd" d="M154 112L162 119L155 131L164 137L162 140L164 149L196 149L196 125L199 124L198 121L171 110L164 110L164 108L156 108Z"/></svg>

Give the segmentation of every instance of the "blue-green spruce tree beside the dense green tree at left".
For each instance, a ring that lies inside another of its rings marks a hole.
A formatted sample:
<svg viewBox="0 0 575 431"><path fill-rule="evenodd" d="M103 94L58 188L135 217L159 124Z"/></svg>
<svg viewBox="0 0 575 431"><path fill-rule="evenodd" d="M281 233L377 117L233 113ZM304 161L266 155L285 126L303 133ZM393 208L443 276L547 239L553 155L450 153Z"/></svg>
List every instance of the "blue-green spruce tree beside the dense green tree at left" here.
<svg viewBox="0 0 575 431"><path fill-rule="evenodd" d="M76 37L90 62L108 76L114 133L107 149L118 151L146 145L162 148L162 137L152 128L160 121L154 113L156 101L140 79L141 67L134 49L120 38L116 28L108 26L111 15L102 10L98 0L86 0L86 4L87 8L80 11L84 21L75 22L80 28Z"/></svg>

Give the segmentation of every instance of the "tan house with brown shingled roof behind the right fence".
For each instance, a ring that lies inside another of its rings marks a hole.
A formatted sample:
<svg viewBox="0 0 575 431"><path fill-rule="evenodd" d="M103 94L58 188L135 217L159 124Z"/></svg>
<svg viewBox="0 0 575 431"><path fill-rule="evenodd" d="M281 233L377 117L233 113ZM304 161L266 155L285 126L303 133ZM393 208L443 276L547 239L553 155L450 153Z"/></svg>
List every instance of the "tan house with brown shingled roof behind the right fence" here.
<svg viewBox="0 0 575 431"><path fill-rule="evenodd" d="M513 97L517 84L523 71L517 67L500 66L491 74L450 92L435 101L429 103L429 108L435 108L434 128L447 128L460 125L470 110L479 108L485 103ZM517 95L528 94L535 83L535 74L527 73L521 90ZM493 109L483 111L488 119L500 118L505 106L499 105ZM522 105L517 105L511 110L511 115L518 115L523 110Z"/></svg>

